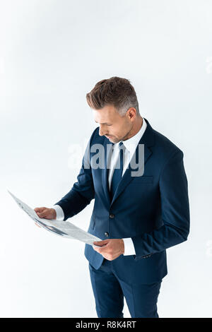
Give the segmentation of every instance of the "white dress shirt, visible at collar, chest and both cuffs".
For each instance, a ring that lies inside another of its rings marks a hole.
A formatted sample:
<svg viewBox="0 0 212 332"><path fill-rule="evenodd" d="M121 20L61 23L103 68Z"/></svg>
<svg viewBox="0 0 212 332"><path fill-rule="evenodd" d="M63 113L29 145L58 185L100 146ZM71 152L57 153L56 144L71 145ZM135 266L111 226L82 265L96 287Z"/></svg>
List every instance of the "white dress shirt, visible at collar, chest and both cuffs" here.
<svg viewBox="0 0 212 332"><path fill-rule="evenodd" d="M141 126L141 129L138 131L138 133L131 138L126 139L125 141L122 141L125 147L125 152L124 152L124 162L123 162L123 172L126 171L126 168L129 166L129 162L134 155L134 152L136 150L136 146L139 144L139 141L141 137L143 136L144 131L146 130L146 121L143 119L143 124ZM110 165L109 165L109 170L108 170L108 186L110 189L111 185L111 180L112 180L112 175L114 172L114 166L117 163L117 160L119 158L119 143L114 143L113 145L113 151L112 151L112 158L110 160ZM57 220L64 220L64 211L59 205L54 205L52 206L54 210L56 211L57 214ZM135 255L136 251L134 248L134 243L131 239L131 237L126 237L123 239L124 240L124 255Z"/></svg>

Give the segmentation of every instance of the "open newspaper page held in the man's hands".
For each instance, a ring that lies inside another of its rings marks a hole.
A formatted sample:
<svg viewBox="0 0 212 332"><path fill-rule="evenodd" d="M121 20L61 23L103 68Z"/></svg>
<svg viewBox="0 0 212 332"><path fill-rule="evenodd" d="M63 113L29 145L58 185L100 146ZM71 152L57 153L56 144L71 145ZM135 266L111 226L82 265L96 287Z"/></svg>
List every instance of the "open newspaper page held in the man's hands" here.
<svg viewBox="0 0 212 332"><path fill-rule="evenodd" d="M69 221L39 218L37 213L33 210L33 208L30 208L30 206L23 203L23 201L20 201L20 199L14 196L10 191L8 191L8 193L11 194L11 196L14 198L18 206L22 208L23 211L27 213L30 216L30 218L32 218L35 221L35 223L37 223L37 225L45 228L45 230L48 230L49 232L52 232L61 237L68 237L69 239L78 239L79 241L85 242L94 247L96 246L93 244L93 242L101 241L101 239L99 239L98 237L95 237L94 235L84 230L81 230L81 228L76 227L72 223L69 223Z"/></svg>

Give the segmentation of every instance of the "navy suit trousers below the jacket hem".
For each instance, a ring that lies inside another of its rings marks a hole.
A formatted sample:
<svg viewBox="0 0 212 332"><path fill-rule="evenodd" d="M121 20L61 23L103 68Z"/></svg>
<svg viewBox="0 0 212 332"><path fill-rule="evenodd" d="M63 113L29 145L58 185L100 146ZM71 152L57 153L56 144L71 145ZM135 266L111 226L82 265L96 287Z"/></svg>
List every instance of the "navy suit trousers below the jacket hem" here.
<svg viewBox="0 0 212 332"><path fill-rule="evenodd" d="M123 317L125 297L131 317L159 318L157 302L162 280L150 284L131 284L130 280L125 283L107 259L98 270L89 263L89 271L98 317Z"/></svg>

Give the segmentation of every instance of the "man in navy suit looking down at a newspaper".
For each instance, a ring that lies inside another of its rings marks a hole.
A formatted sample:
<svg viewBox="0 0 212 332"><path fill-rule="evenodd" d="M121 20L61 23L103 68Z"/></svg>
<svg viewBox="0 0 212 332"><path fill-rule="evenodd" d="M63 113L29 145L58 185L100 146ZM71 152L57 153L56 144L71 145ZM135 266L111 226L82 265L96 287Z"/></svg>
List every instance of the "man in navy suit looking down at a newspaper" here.
<svg viewBox="0 0 212 332"><path fill-rule="evenodd" d="M86 244L98 317L158 318L166 249L187 240L189 197L183 153L139 114L131 83L98 82L86 95L99 126L90 137L77 182L41 218L67 220L95 204ZM98 153L97 153L98 150Z"/></svg>

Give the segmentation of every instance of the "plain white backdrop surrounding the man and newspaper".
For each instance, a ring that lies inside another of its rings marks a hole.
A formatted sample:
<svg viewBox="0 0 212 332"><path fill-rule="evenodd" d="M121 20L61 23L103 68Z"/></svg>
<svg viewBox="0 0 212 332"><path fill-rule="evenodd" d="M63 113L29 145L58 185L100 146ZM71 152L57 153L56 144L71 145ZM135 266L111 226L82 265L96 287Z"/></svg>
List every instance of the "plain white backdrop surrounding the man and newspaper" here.
<svg viewBox="0 0 212 332"><path fill-rule="evenodd" d="M84 244L36 227L6 189L32 208L71 189L73 144L96 127L86 93L112 76L184 152L191 231L167 249L158 314L212 316L211 18L209 0L0 1L1 316L96 317ZM93 203L70 221L87 230Z"/></svg>

